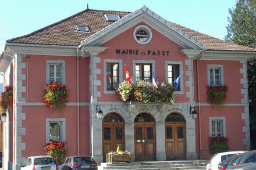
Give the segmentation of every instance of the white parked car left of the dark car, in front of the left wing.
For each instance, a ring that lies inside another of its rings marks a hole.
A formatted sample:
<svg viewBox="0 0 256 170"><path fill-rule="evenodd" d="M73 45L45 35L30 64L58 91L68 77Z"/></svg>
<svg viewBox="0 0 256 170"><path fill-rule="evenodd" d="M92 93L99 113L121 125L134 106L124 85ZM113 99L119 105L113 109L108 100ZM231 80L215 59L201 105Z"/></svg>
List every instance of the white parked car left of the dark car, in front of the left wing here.
<svg viewBox="0 0 256 170"><path fill-rule="evenodd" d="M48 155L28 157L20 170L56 170L58 164Z"/></svg>

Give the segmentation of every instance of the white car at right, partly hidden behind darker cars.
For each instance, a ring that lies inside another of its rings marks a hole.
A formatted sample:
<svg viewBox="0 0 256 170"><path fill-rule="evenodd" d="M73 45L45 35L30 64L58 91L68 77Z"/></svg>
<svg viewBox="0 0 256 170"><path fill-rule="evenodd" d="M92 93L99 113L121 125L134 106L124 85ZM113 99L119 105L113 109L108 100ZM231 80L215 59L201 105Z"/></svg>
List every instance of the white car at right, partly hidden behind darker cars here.
<svg viewBox="0 0 256 170"><path fill-rule="evenodd" d="M239 153L244 153L244 151L227 151L227 152L223 152L223 153L214 154L210 158L206 169L207 170L219 170L218 165L220 162L226 160L227 158L231 157L234 154L239 154Z"/></svg>

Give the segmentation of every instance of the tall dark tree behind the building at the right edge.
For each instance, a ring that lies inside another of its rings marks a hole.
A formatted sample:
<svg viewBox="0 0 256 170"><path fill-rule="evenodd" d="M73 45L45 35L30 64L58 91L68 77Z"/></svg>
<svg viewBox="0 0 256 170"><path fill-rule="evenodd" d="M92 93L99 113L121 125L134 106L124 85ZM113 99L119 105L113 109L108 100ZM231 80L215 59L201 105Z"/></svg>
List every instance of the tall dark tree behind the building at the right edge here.
<svg viewBox="0 0 256 170"><path fill-rule="evenodd" d="M229 9L227 35L225 40L256 48L256 0L237 0L236 7ZM248 60L248 95L251 124L251 142L255 143L256 133L256 58ZM253 131L252 131L253 130ZM255 147L255 146L253 146ZM255 149L255 148L254 148Z"/></svg>

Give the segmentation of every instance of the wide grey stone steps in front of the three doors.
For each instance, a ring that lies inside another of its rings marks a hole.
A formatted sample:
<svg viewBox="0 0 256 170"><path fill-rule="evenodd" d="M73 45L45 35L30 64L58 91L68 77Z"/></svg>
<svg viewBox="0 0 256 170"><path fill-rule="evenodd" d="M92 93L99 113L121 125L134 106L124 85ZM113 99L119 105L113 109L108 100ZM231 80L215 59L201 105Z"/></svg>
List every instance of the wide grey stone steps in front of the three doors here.
<svg viewBox="0 0 256 170"><path fill-rule="evenodd" d="M154 162L118 162L118 163L101 163L98 167L99 170L112 169L112 170L196 170L196 169L206 169L208 160L193 160L193 161L154 161Z"/></svg>

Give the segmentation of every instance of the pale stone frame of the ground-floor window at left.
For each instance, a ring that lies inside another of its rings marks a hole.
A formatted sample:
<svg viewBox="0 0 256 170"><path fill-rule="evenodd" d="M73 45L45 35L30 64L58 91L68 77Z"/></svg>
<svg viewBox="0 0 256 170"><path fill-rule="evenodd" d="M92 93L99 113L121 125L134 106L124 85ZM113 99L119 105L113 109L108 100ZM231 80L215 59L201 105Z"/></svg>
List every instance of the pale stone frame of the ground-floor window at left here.
<svg viewBox="0 0 256 170"><path fill-rule="evenodd" d="M65 118L47 118L45 120L46 143L50 142L50 122L61 123L61 141L66 140L66 119Z"/></svg>

